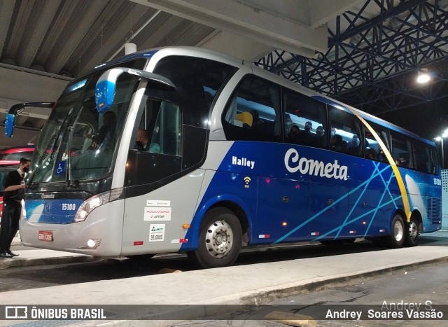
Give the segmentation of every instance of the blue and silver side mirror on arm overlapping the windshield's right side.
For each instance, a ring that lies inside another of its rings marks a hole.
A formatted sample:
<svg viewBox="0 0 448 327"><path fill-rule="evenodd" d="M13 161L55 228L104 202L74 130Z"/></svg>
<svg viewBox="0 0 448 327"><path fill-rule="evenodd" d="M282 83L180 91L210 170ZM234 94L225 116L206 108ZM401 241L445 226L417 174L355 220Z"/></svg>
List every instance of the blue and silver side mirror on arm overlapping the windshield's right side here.
<svg viewBox="0 0 448 327"><path fill-rule="evenodd" d="M97 85L95 86L95 102L97 103L97 111L99 113L104 113L111 109L116 95L118 76L123 73L144 78L148 81L148 84L152 85L154 88L161 90L176 90L176 86L172 81L169 81L168 78L158 74L132 68L112 68L105 71L102 76L99 77Z"/></svg>

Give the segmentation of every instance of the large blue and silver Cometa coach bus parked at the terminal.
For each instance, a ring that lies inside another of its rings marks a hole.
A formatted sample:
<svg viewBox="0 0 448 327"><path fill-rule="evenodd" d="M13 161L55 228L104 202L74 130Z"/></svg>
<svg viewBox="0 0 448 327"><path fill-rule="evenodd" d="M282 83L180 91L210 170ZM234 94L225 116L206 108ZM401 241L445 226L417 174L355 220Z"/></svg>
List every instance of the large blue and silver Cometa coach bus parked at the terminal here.
<svg viewBox="0 0 448 327"><path fill-rule="evenodd" d="M9 113L12 132L15 115ZM92 256L372 239L441 228L433 142L210 50L127 55L72 81L36 146L22 244Z"/></svg>

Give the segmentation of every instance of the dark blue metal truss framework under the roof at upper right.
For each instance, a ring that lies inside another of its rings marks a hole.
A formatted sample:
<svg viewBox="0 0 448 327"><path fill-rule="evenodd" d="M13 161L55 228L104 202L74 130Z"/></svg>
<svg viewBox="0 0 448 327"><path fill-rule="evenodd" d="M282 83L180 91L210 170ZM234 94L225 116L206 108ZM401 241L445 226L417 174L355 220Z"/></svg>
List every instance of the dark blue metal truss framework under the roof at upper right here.
<svg viewBox="0 0 448 327"><path fill-rule="evenodd" d="M367 8L379 7L376 17ZM448 1L367 0L337 16L314 58L276 50L255 62L376 116L448 97ZM430 85L415 82L428 69Z"/></svg>

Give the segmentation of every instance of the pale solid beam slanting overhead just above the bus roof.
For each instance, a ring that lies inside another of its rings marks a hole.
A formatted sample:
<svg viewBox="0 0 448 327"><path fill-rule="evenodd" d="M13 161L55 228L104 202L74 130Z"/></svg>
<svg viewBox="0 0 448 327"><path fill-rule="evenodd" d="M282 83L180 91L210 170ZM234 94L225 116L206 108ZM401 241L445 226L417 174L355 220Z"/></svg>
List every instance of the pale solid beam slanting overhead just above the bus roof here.
<svg viewBox="0 0 448 327"><path fill-rule="evenodd" d="M314 51L325 51L327 48L327 25L311 27L311 18L303 22L303 18L292 13L312 11L311 1L286 1L285 8L276 3L277 15L264 8L255 6L254 1L241 0L132 0L145 6L152 6L173 15L214 27L221 31L249 38L262 43L268 48L281 48L306 57L314 55ZM346 9L348 0L331 1L330 8L339 6ZM333 7L332 7L333 6ZM274 8L274 6L272 7ZM307 10L300 9L305 8ZM325 12L316 13L322 19ZM283 17L281 17L283 15ZM286 17L293 18L285 19ZM302 19L302 21L300 21ZM298 20L298 21L297 21ZM232 44L228 44L232 50ZM232 53L231 53L232 54Z"/></svg>

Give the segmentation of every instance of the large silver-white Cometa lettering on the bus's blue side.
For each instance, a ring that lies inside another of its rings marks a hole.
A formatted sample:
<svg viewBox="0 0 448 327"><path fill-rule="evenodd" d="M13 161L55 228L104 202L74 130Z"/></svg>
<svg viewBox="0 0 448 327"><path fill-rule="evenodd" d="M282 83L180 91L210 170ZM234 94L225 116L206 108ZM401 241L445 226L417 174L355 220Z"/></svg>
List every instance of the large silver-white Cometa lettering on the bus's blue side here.
<svg viewBox="0 0 448 327"><path fill-rule="evenodd" d="M290 162L293 164L290 165ZM347 166L341 166L335 162L328 162L308 159L302 157L299 159L299 153L294 148L290 148L285 154L285 167L288 172L300 172L302 174L309 174L314 176L326 177L328 179L347 179Z"/></svg>

